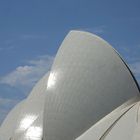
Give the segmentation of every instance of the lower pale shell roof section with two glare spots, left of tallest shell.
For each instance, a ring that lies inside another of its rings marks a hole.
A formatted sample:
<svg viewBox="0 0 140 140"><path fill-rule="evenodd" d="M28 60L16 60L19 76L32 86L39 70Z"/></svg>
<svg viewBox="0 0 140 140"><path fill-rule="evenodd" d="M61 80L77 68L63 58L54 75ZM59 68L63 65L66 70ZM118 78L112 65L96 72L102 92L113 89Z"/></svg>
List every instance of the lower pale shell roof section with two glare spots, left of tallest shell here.
<svg viewBox="0 0 140 140"><path fill-rule="evenodd" d="M47 88L47 73L35 85L27 99L8 114L1 125L0 140L42 138L43 110ZM32 132L32 133L31 133Z"/></svg>

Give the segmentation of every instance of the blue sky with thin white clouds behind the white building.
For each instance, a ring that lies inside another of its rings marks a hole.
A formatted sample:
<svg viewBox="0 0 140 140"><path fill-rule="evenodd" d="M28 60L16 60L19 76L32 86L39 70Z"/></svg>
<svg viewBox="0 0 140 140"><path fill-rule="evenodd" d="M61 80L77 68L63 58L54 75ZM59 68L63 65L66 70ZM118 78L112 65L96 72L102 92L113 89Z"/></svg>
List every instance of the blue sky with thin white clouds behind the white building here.
<svg viewBox="0 0 140 140"><path fill-rule="evenodd" d="M72 29L107 40L140 81L139 0L0 0L0 123L50 69Z"/></svg>

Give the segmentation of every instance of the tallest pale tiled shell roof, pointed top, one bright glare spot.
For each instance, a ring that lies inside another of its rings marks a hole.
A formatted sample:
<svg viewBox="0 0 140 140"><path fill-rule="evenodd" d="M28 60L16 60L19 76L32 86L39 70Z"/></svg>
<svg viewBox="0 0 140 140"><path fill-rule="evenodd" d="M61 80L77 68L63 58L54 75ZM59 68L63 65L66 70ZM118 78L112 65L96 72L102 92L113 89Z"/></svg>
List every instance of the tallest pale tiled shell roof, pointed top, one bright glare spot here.
<svg viewBox="0 0 140 140"><path fill-rule="evenodd" d="M73 140L139 95L118 53L96 35L71 31L61 44L47 85L45 140Z"/></svg>

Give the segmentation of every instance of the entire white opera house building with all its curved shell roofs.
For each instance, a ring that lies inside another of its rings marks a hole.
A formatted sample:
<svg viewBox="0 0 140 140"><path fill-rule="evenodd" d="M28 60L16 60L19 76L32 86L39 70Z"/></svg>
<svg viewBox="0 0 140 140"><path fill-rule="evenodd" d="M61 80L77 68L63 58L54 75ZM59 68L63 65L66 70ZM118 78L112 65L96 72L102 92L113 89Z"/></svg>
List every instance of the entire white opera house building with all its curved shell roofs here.
<svg viewBox="0 0 140 140"><path fill-rule="evenodd" d="M51 70L0 127L0 140L140 140L140 88L100 37L71 31Z"/></svg>

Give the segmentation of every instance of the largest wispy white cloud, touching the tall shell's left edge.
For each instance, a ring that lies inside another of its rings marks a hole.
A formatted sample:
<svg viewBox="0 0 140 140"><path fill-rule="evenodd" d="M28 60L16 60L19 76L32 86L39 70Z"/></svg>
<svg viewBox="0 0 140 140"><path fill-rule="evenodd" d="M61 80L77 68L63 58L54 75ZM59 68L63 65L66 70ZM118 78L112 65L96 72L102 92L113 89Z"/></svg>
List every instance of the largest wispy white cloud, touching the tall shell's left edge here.
<svg viewBox="0 0 140 140"><path fill-rule="evenodd" d="M28 61L27 65L18 66L15 70L2 77L0 83L8 84L27 92L50 70L52 62L52 56L39 56L35 60Z"/></svg>

